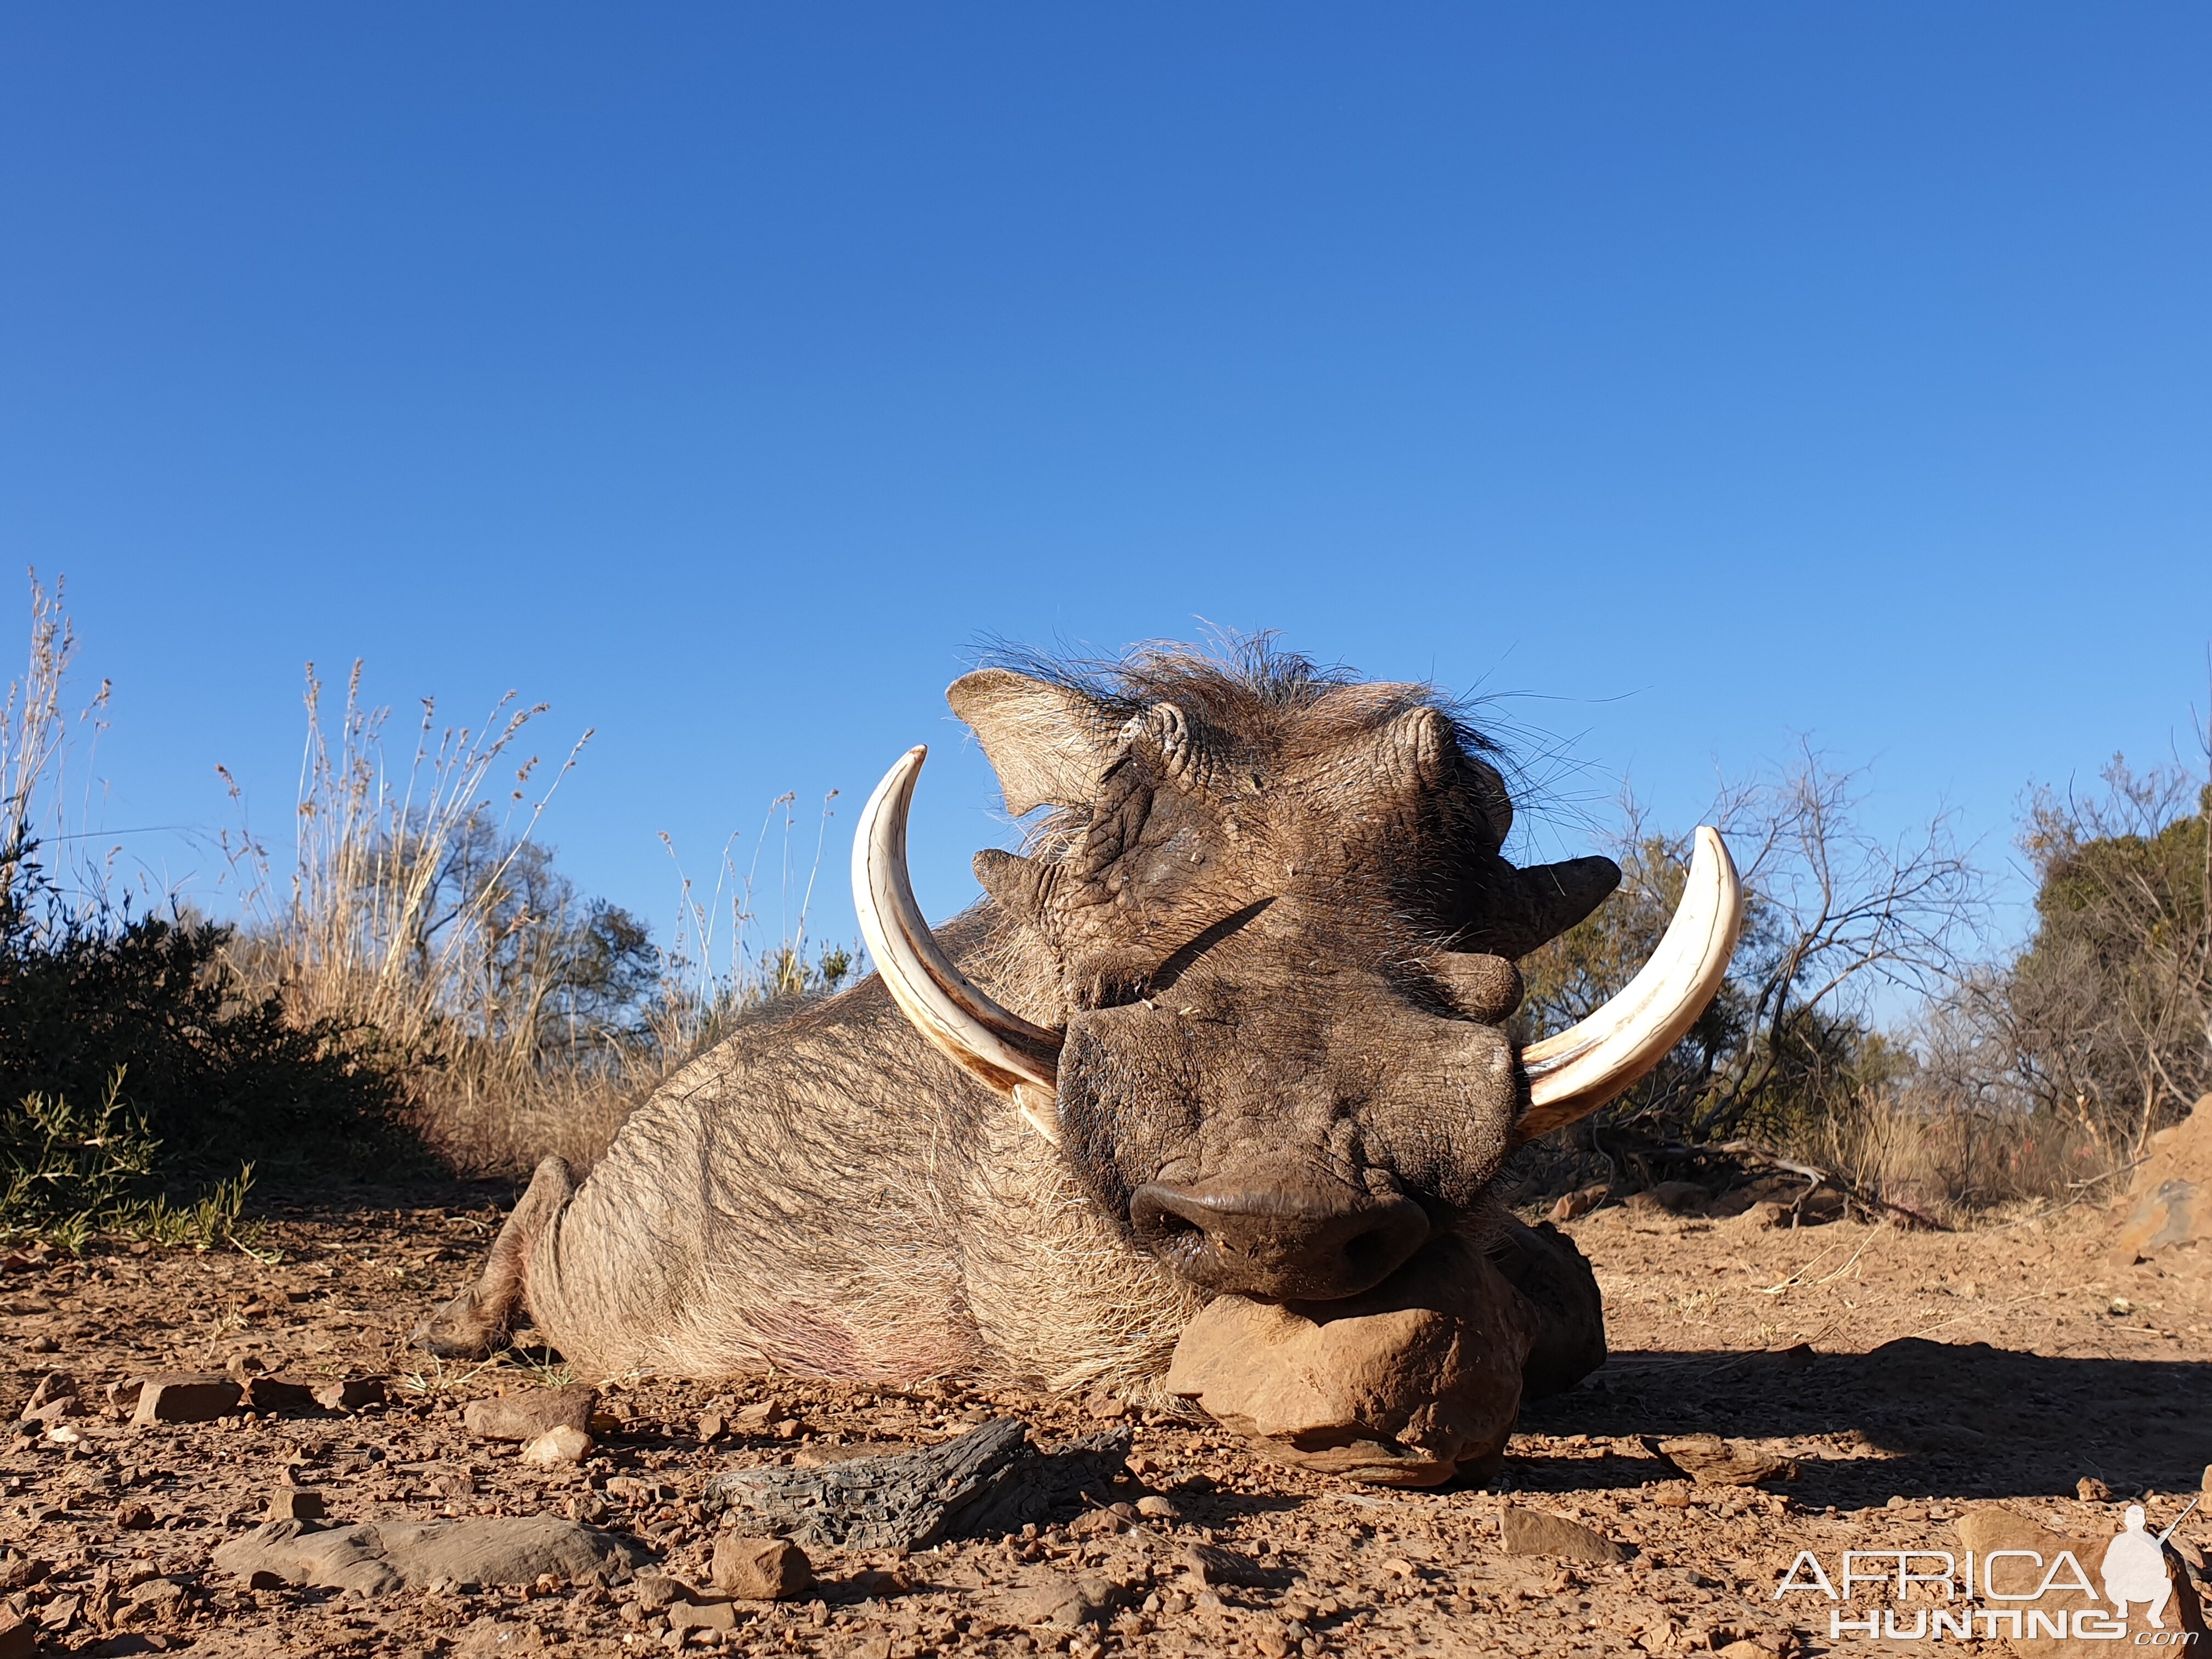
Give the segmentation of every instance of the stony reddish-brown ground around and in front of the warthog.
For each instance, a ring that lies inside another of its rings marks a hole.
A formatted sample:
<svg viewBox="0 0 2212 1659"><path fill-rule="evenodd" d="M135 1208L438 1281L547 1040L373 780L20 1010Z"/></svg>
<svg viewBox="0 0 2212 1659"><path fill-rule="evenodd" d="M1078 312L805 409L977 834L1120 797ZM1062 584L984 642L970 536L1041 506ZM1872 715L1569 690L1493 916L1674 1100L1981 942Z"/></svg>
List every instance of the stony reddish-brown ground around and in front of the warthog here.
<svg viewBox="0 0 2212 1659"><path fill-rule="evenodd" d="M2135 1500L2157 1528L2212 1462L2212 1263L2194 1245L2126 1261L2112 1219L2084 1210L1942 1234L1601 1208L1568 1230L1606 1290L1613 1360L1524 1411L1489 1486L1380 1491L1121 1400L602 1383L526 1352L429 1363L405 1334L473 1272L504 1197L294 1208L272 1217L268 1259L95 1250L0 1274L4 1418L53 1371L82 1405L13 1425L0 1451L0 1586L24 1621L7 1635L0 1615L0 1655L33 1639L113 1655L1874 1652L1887 1644L1829 1641L1820 1597L1774 1599L1798 1551L1958 1548L1958 1520L1989 1502L2104 1540ZM111 1383L226 1367L376 1376L385 1402L108 1416ZM538 1469L465 1425L473 1398L573 1380L602 1383L582 1462ZM933 1444L1004 1416L1037 1440L1126 1427L1128 1473L1042 1526L905 1555L814 1548L814 1586L785 1601L703 1595L714 1473ZM387 1595L215 1564L301 1489L325 1524L553 1515L653 1562L613 1584ZM2203 1511L2177 1533L2190 1540L2212 1540ZM1608 1553L1624 1559L1577 1559Z"/></svg>

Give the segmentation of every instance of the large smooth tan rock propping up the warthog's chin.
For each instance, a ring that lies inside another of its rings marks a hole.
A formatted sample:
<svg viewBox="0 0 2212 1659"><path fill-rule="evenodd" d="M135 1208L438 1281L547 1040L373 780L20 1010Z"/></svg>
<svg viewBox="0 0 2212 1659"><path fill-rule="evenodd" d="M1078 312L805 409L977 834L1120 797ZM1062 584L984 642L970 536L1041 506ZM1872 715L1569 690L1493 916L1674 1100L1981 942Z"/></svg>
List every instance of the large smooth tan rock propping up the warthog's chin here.
<svg viewBox="0 0 2212 1659"><path fill-rule="evenodd" d="M1217 1296L1183 1327L1166 1387L1279 1462L1436 1486L1504 1447L1535 1334L1535 1307L1444 1237L1340 1303Z"/></svg>

